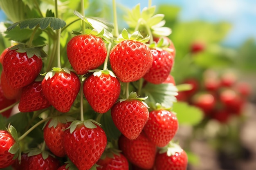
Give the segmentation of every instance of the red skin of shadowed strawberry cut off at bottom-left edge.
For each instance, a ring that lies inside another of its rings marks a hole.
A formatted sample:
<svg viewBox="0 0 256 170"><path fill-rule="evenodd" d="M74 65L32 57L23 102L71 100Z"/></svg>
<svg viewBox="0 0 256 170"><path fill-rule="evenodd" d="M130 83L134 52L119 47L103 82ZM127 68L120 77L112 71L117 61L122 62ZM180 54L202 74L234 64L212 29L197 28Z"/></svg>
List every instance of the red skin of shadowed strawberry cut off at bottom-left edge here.
<svg viewBox="0 0 256 170"><path fill-rule="evenodd" d="M48 155L43 159L42 154L29 157L29 170L56 170L60 166L58 159Z"/></svg>

